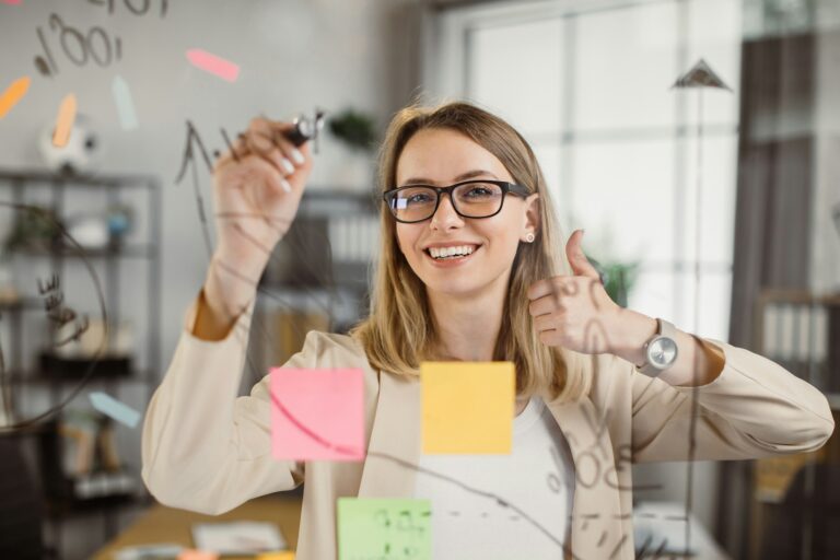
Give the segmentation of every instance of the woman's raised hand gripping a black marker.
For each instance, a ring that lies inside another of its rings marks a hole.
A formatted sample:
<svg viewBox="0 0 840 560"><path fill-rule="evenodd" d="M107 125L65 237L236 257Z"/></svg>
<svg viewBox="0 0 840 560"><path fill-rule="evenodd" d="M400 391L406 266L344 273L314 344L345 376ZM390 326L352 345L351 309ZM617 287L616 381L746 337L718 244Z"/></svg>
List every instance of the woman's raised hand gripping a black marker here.
<svg viewBox="0 0 840 560"><path fill-rule="evenodd" d="M213 168L214 260L255 283L298 212L312 172L308 144L296 148L290 122L255 118Z"/></svg>

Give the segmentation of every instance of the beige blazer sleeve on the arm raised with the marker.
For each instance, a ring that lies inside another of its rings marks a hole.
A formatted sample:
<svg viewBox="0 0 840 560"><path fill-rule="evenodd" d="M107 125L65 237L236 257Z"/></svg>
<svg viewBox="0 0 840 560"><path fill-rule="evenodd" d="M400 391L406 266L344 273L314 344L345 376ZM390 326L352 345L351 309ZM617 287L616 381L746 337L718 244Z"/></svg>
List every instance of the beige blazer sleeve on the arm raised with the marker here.
<svg viewBox="0 0 840 560"><path fill-rule="evenodd" d="M220 341L194 337L187 319L143 422L142 478L161 503L215 515L303 480L303 463L271 454L269 376L236 397L253 308ZM289 366L317 366L322 338L313 335Z"/></svg>

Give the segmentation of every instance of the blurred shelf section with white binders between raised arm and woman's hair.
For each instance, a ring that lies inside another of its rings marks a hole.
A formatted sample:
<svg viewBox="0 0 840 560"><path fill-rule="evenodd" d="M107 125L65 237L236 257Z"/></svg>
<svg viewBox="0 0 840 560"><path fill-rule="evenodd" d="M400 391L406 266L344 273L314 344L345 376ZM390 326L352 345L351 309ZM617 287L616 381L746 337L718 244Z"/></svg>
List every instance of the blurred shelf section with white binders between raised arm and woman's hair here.
<svg viewBox="0 0 840 560"><path fill-rule="evenodd" d="M259 326L249 342L257 374L300 350L307 329L345 332L368 313L378 203L372 191L304 192L260 280L254 319Z"/></svg>

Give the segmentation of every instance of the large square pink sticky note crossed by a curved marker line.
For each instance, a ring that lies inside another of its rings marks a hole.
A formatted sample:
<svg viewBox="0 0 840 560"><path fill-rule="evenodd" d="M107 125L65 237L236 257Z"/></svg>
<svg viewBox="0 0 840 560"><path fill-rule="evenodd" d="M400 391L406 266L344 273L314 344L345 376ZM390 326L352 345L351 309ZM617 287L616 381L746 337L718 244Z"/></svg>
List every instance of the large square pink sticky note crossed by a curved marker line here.
<svg viewBox="0 0 840 560"><path fill-rule="evenodd" d="M271 452L293 460L364 458L362 370L271 370Z"/></svg>

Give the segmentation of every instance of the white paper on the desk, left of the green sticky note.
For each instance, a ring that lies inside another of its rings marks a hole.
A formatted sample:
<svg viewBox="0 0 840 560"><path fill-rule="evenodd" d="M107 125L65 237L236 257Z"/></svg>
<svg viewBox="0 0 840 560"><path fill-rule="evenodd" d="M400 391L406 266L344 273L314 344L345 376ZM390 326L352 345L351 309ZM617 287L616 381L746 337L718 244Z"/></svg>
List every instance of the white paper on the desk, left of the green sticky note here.
<svg viewBox="0 0 840 560"><path fill-rule="evenodd" d="M192 525L196 548L218 555L248 556L288 548L277 525L258 521L196 523Z"/></svg>

